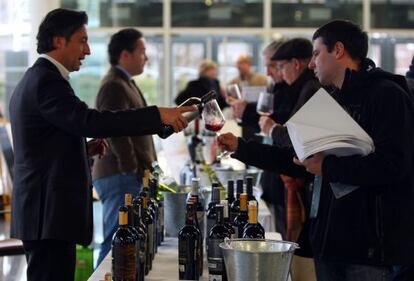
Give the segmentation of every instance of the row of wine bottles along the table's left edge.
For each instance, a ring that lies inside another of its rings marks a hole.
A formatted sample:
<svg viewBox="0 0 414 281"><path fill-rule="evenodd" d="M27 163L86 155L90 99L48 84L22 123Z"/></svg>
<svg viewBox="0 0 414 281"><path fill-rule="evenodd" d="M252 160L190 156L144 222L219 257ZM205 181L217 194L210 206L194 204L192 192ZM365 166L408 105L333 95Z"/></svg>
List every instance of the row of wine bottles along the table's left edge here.
<svg viewBox="0 0 414 281"><path fill-rule="evenodd" d="M142 191L125 194L119 208L119 228L112 238L114 281L142 281L152 268L157 248L164 240L163 200L158 194L158 174L145 170Z"/></svg>

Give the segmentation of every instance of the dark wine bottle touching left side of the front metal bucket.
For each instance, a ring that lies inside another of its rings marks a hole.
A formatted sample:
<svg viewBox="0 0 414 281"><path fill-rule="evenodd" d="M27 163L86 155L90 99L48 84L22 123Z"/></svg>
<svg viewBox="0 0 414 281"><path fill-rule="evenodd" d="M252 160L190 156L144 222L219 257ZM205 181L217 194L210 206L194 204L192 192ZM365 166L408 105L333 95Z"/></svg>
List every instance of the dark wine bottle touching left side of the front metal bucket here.
<svg viewBox="0 0 414 281"><path fill-rule="evenodd" d="M207 261L209 280L227 280L223 253L219 247L224 238L230 238L230 232L224 225L223 207L221 204L215 206L217 220L208 235Z"/></svg>

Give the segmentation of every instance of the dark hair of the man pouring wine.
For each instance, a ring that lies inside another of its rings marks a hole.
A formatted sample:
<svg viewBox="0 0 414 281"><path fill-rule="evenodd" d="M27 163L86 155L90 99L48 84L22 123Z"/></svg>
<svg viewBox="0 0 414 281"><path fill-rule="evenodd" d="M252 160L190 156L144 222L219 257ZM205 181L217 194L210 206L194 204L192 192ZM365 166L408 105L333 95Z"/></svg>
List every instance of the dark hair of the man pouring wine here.
<svg viewBox="0 0 414 281"><path fill-rule="evenodd" d="M67 41L79 28L88 23L88 15L83 11L55 9L43 19L37 33L37 52L39 54L53 51L53 37L62 36Z"/></svg>

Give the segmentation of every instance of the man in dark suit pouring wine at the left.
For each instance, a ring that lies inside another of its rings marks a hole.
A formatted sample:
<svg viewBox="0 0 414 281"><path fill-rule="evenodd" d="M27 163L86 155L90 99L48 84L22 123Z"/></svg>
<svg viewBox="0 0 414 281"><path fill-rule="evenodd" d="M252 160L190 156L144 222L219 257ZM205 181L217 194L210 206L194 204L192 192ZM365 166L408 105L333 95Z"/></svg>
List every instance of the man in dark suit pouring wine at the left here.
<svg viewBox="0 0 414 281"><path fill-rule="evenodd" d="M102 111L80 101L68 79L90 54L87 15L49 12L37 34L41 54L10 101L15 176L11 236L23 240L28 281L73 281L75 244L92 239L92 189L85 137L175 131L186 107Z"/></svg>

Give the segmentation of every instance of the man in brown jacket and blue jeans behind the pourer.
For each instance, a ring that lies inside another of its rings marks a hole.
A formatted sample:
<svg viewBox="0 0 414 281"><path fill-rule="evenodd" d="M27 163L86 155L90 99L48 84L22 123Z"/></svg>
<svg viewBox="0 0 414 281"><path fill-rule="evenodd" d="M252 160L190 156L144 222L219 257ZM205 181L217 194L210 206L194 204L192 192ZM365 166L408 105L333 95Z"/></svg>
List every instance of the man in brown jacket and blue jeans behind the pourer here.
<svg viewBox="0 0 414 281"><path fill-rule="evenodd" d="M148 57L142 33L133 28L122 29L111 37L108 55L111 68L104 77L96 108L125 110L145 108L147 103L133 76L144 71ZM108 152L95 159L92 180L103 204L104 241L98 264L111 249L112 236L118 226L118 208L125 193L138 195L145 169L157 159L151 135L109 138Z"/></svg>

